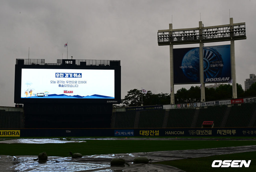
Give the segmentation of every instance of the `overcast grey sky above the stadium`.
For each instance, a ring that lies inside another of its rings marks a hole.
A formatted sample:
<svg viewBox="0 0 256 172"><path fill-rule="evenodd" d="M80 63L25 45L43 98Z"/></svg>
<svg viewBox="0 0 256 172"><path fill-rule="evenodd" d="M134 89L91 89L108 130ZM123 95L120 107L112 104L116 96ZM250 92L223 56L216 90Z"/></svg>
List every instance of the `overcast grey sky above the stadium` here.
<svg viewBox="0 0 256 172"><path fill-rule="evenodd" d="M230 12L229 12L230 9ZM169 46L158 46L157 31L246 22L245 40L235 41L236 79L244 89L256 73L254 0L0 0L0 106L14 106L16 58L56 63L73 59L121 60L121 98L130 89L170 93ZM229 16L230 15L230 16ZM207 43L205 46L230 42ZM198 47L198 44L174 48ZM194 84L194 86L200 84ZM174 91L190 85L175 85ZM199 96L200 97L200 96Z"/></svg>

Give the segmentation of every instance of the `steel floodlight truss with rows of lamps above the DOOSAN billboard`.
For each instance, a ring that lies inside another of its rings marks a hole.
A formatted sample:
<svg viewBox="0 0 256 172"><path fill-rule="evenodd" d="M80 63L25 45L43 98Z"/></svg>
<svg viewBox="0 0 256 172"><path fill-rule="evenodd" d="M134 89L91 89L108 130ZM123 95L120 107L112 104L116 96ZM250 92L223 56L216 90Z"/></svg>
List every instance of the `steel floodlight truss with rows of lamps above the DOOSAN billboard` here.
<svg viewBox="0 0 256 172"><path fill-rule="evenodd" d="M246 39L245 23L188 29L158 30L158 45L197 44Z"/></svg>

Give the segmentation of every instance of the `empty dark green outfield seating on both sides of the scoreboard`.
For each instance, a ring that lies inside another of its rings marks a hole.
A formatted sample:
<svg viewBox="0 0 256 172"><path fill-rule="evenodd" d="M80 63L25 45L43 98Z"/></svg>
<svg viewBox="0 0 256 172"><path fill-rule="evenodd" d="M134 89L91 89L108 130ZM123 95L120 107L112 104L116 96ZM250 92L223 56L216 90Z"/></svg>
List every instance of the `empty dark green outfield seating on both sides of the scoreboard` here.
<svg viewBox="0 0 256 172"><path fill-rule="evenodd" d="M204 121L214 121L214 127L256 127L256 103L233 104L229 107L218 105L197 109L157 109L114 113L113 128L202 127ZM23 120L21 121L22 116L24 116L23 112L20 111L0 109L0 128L20 128L21 124L24 124Z"/></svg>

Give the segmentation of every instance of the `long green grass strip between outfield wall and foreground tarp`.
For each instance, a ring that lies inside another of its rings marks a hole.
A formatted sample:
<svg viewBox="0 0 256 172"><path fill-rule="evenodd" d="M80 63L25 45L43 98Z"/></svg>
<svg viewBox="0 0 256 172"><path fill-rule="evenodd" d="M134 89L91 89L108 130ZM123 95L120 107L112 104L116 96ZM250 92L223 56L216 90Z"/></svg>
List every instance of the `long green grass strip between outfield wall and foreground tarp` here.
<svg viewBox="0 0 256 172"><path fill-rule="evenodd" d="M254 140L86 140L85 143L0 143L0 155L69 156L69 151L82 155L118 154L133 152L171 151L256 145Z"/></svg>

